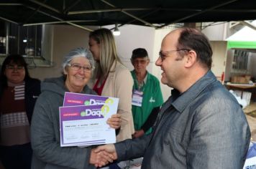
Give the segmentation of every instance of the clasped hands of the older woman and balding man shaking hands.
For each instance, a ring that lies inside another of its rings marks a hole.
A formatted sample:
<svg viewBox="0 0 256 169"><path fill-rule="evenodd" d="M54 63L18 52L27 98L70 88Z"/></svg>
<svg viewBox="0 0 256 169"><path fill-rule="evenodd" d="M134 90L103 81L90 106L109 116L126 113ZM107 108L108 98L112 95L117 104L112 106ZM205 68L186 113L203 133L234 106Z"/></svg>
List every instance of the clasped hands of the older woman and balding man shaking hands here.
<svg viewBox="0 0 256 169"><path fill-rule="evenodd" d="M90 164L93 164L96 168L101 168L104 165L112 163L117 159L116 148L114 144L101 145L98 148L91 150Z"/></svg>

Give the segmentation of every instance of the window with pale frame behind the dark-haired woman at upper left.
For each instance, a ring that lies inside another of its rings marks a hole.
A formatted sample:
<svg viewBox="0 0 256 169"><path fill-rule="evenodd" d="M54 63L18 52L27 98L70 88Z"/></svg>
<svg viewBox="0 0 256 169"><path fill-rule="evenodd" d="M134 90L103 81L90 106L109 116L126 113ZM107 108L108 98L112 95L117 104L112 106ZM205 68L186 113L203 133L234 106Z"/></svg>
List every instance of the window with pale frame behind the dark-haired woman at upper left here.
<svg viewBox="0 0 256 169"><path fill-rule="evenodd" d="M52 27L0 21L0 56L22 54L29 67L52 66Z"/></svg>

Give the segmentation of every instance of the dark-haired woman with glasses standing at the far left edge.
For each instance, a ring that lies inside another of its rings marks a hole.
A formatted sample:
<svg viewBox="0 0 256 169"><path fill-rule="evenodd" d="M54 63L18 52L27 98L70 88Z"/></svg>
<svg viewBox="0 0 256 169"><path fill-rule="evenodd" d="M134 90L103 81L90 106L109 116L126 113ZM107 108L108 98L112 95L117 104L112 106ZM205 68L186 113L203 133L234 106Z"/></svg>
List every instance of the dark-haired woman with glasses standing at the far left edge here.
<svg viewBox="0 0 256 169"><path fill-rule="evenodd" d="M22 55L11 54L0 73L0 156L6 169L30 168L30 122L40 80L29 76Z"/></svg>

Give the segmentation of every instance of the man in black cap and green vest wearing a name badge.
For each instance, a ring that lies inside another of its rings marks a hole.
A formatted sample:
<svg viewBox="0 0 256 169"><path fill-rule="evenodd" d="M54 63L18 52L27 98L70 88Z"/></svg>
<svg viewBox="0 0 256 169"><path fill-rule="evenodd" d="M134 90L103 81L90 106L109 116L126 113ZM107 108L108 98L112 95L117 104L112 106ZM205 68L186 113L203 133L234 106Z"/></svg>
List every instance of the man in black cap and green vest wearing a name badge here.
<svg viewBox="0 0 256 169"><path fill-rule="evenodd" d="M146 49L134 49L131 62L134 66L134 70L131 71L134 80L132 115L135 132L133 137L141 137L151 132L151 127L154 125L160 106L163 104L163 95L157 77L147 72L150 58Z"/></svg>

